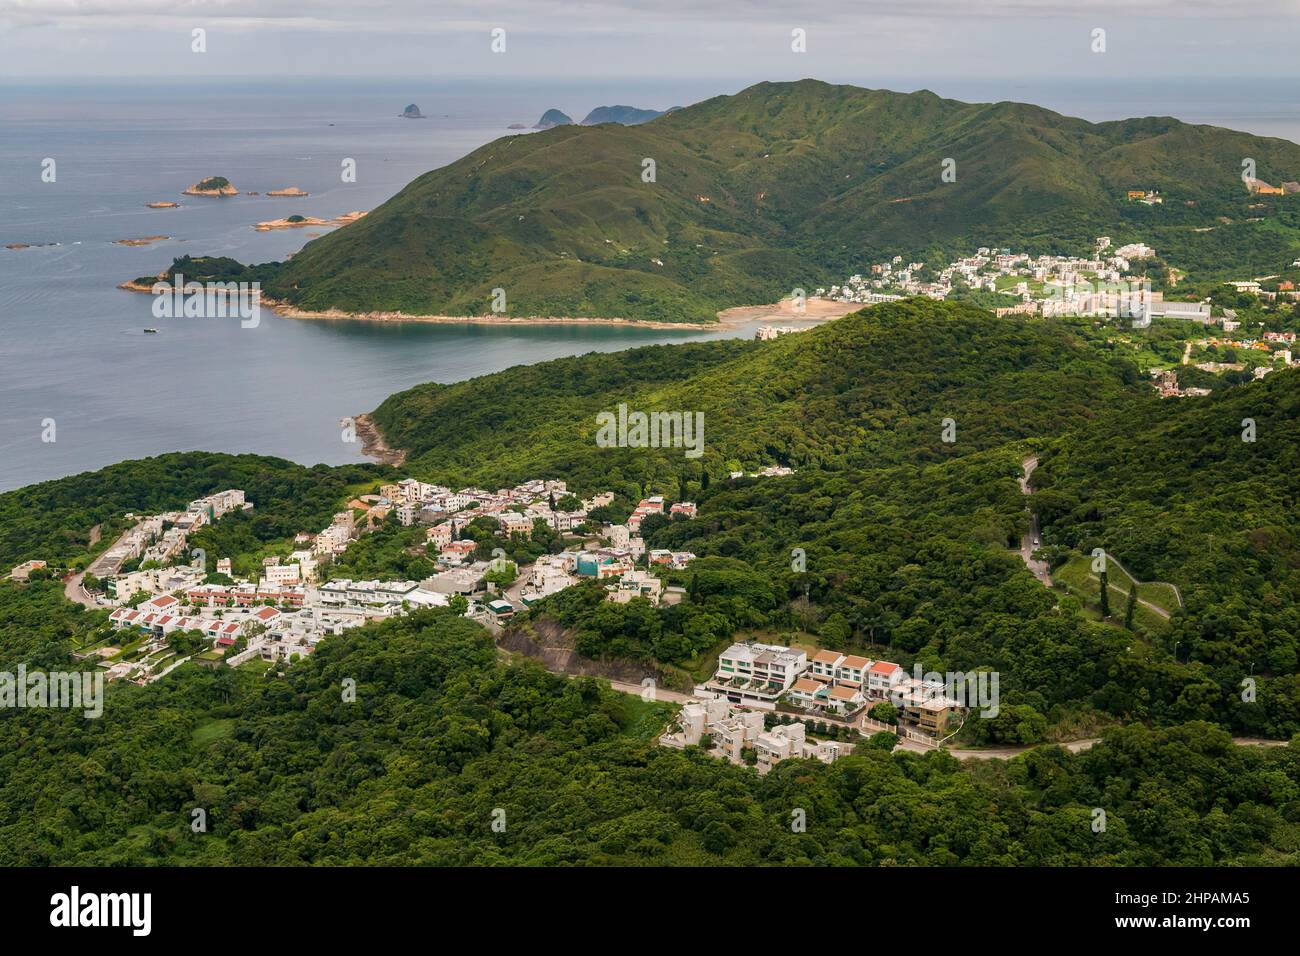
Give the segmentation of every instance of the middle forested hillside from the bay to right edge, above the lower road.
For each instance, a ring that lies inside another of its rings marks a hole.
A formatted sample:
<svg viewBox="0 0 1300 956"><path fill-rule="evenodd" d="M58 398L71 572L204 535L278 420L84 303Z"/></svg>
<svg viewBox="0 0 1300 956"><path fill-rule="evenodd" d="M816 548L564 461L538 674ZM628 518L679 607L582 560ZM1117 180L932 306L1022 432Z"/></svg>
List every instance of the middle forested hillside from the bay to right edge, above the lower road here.
<svg viewBox="0 0 1300 956"><path fill-rule="evenodd" d="M696 578L725 581L705 585L722 605L660 626L611 613L593 623L581 600L560 601L584 653L690 662L736 627L783 626L802 593L831 645L996 667L1024 714L1061 722L1097 709L1290 735L1300 728L1297 382L1300 371L1279 371L1204 401L1160 399L1128 360L1069 326L914 299L772 342L419 386L376 420L432 480L554 473L623 502L651 492L698 502L698 519L651 527L646 541L701 555ZM703 455L598 447L597 416L620 403L701 412ZM1254 444L1240 441L1245 418ZM1015 477L1030 454L1041 459L1034 501L1053 571L1100 548L1140 580L1176 585L1186 609L1171 602L1167 619L1130 630L1097 623L1086 594L1035 581L1010 550L1028 528ZM768 464L796 475L727 479ZM796 548L806 574L790 570ZM1258 705L1243 705L1252 675Z"/></svg>

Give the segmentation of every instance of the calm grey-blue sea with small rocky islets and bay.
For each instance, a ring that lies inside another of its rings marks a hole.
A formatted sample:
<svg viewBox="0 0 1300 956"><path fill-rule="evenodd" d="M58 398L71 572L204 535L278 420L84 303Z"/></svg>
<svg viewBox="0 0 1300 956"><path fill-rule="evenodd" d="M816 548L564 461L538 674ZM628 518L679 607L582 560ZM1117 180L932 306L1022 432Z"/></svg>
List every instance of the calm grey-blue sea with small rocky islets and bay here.
<svg viewBox="0 0 1300 956"><path fill-rule="evenodd" d="M1294 82L837 79L1039 103L1093 121L1169 114L1300 142ZM751 338L760 323L521 328L303 321L269 310L256 328L243 328L237 320L155 319L151 297L117 287L186 254L283 259L325 230L256 232L255 222L373 209L429 169L498 137L526 135L508 126L532 126L552 107L581 120L597 105L664 109L746 85L0 79L0 490L194 449L304 464L364 460L359 444L341 440L339 420L420 382L590 351ZM426 118L400 118L411 103ZM355 161L355 182L342 181L344 160ZM182 195L208 176L226 177L240 195ZM309 195L265 195L287 186ZM160 200L181 206L146 207ZM118 242L152 235L170 238Z"/></svg>

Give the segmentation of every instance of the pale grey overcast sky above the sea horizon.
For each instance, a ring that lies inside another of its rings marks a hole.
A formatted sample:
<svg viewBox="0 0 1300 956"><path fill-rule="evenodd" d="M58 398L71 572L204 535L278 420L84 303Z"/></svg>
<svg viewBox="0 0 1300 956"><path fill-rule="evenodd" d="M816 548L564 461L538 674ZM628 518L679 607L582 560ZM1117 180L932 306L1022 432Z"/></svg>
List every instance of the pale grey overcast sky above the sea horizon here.
<svg viewBox="0 0 1300 956"><path fill-rule="evenodd" d="M1140 9L1141 16L1134 10ZM191 30L207 52L191 52ZM490 31L506 30L493 53ZM790 49L802 29L807 51ZM1095 29L1105 53L1092 52ZM0 75L1290 78L1300 0L0 0Z"/></svg>

